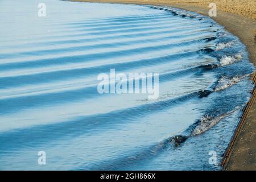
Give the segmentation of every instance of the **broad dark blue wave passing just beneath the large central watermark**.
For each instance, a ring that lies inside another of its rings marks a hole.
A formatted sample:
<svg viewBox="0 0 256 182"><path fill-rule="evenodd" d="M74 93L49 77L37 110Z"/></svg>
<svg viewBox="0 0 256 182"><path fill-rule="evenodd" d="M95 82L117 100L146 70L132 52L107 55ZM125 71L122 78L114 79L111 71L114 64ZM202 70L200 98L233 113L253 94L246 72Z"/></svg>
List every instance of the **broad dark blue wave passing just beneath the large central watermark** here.
<svg viewBox="0 0 256 182"><path fill-rule="evenodd" d="M71 137L78 137L82 134L96 132L97 127L100 127L101 130L104 130L104 128L108 129L109 126L113 127L114 125L120 125L124 122L136 121L140 117L152 114L152 111L156 113L196 97L197 92L192 92L180 97L163 101L148 102L126 109L114 110L109 113L87 115L73 119L72 121L9 130L0 133L0 142L5 143L5 146L0 146L0 151L22 147L23 145L33 143L35 140L39 145L51 140L67 137L68 135L71 135ZM54 97L52 99L54 99ZM6 143L6 140L9 140L9 142Z"/></svg>

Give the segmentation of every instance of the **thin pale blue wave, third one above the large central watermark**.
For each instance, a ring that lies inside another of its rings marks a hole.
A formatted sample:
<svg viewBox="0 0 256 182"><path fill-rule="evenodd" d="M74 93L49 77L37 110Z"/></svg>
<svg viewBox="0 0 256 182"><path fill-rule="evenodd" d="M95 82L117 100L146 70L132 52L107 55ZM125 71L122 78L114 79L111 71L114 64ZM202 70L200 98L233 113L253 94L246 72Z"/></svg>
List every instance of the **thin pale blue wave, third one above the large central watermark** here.
<svg viewBox="0 0 256 182"><path fill-rule="evenodd" d="M186 34L188 33L189 34ZM15 55L18 53L21 56L31 56L31 55L40 55L43 53L58 53L58 52L63 52L63 51L75 51L76 49L81 49L83 46L92 46L94 48L102 46L114 46L114 45L120 45L123 46L124 43L131 44L131 43L136 43L135 41L142 41L142 40L147 40L147 42L152 41L152 40L158 40L158 39L174 39L175 41L179 39L185 39L185 38L193 38L193 36L199 36L199 35L209 35L210 32L207 31L207 29L199 29L195 31L187 31L187 30L181 30L180 32L174 32L173 34L170 35L169 31L155 31L151 32L151 34L131 34L129 36L107 36L107 37L102 37L101 39L97 38L90 38L90 39L77 39L77 40L63 40L63 41L57 41L57 42L48 42L49 45L42 46L42 44L36 44L36 43L29 43L26 44L26 48L23 47L17 47L14 51L10 49L5 49L5 52L8 53L1 53L0 56L4 57L6 56L7 58L13 57L13 54ZM185 35L184 35L185 34ZM53 44L53 45L52 45ZM36 46L36 47L35 47ZM27 48L30 48L30 52L27 52ZM85 47L88 48L88 47ZM49 51L49 52L48 52ZM54 52L56 51L56 52Z"/></svg>

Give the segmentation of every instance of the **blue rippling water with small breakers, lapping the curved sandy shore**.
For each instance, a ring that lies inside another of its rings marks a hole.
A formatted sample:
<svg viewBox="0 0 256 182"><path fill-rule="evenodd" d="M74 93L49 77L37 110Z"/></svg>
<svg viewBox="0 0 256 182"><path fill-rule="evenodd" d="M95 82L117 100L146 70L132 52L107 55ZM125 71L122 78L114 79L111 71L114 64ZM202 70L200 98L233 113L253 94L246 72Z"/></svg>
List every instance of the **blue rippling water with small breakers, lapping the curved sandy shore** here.
<svg viewBox="0 0 256 182"><path fill-rule="evenodd" d="M44 2L0 2L0 169L221 169L253 88L238 38L171 7ZM159 73L159 98L99 94L111 68Z"/></svg>

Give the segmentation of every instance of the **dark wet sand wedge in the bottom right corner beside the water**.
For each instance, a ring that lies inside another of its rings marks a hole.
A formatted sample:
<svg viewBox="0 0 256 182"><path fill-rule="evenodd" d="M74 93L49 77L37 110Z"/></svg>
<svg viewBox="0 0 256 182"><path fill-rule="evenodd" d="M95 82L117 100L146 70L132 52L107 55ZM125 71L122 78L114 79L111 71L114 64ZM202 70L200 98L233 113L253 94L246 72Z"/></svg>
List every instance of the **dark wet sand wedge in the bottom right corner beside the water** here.
<svg viewBox="0 0 256 182"><path fill-rule="evenodd" d="M256 84L256 74L253 77ZM222 166L225 170L256 170L256 110L255 96L256 90L251 92L253 96L244 108L240 124L234 133L228 150L222 160Z"/></svg>

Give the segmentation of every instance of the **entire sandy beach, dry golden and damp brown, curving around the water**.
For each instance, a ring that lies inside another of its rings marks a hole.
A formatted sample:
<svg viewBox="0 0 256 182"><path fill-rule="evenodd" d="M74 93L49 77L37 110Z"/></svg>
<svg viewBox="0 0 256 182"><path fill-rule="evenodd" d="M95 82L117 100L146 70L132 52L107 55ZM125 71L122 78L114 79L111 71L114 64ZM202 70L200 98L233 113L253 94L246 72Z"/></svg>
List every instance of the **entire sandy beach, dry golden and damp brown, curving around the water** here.
<svg viewBox="0 0 256 182"><path fill-rule="evenodd" d="M184 10L195 11L199 14L208 16L208 5L213 1L164 1L164 0L77 0L80 2L108 2L108 3L131 3L143 5L163 5L172 6ZM217 16L212 17L217 23L221 24L238 36L246 45L249 51L251 63L256 65L256 1L254 0L216 0ZM254 77L255 80L255 77ZM226 170L256 170L256 105L255 90L253 97L245 108L240 125L234 134L232 141L226 151L222 162Z"/></svg>

